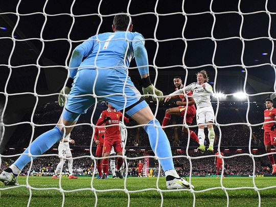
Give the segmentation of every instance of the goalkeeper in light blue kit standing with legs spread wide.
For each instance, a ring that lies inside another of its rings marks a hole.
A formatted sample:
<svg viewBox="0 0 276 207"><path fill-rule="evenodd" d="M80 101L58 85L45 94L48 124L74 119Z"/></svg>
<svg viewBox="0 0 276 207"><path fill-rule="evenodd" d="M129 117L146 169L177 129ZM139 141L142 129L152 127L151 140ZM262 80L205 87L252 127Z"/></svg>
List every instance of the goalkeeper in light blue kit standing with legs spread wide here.
<svg viewBox="0 0 276 207"><path fill-rule="evenodd" d="M37 137L29 146L32 155L44 153L63 136L69 134L80 114L86 113L87 109L95 104L97 95L104 96L117 111L125 107L128 116L138 124L145 125L144 129L148 133L153 151L157 145L158 157L172 157L167 135L127 72L130 61L135 57L145 97L155 94L158 97L154 98L154 101L163 100L162 91L150 82L145 39L140 33L131 32L131 19L125 13L114 16L112 30L113 32L90 37L73 51L69 64L70 78L62 90L62 93L70 93L70 96L56 127ZM85 59L82 61L83 57ZM59 105L63 106L64 103L65 99L60 95ZM0 175L5 184L16 182L16 176L30 162L31 158L27 155L29 148L24 152L26 154L22 154ZM178 176L172 158L160 159L160 164L165 171L168 189L192 187Z"/></svg>

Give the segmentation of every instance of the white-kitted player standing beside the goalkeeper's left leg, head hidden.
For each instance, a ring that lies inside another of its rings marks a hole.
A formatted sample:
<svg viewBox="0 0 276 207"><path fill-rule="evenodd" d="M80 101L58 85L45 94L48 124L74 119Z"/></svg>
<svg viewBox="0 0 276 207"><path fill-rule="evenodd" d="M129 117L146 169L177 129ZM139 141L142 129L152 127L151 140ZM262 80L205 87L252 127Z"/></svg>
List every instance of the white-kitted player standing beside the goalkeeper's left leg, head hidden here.
<svg viewBox="0 0 276 207"><path fill-rule="evenodd" d="M73 159L72 159L72 153L70 150L69 143L75 144L75 141L70 139L70 134L65 136L64 139L59 141L59 146L58 146L58 156L60 157L60 162L57 165L57 168L55 170L55 174L52 176L53 179L58 178L58 173L62 173L63 165L65 164L64 158L67 158L68 160L68 171L69 171L69 176L68 179L77 179L78 177L74 176L73 174Z"/></svg>

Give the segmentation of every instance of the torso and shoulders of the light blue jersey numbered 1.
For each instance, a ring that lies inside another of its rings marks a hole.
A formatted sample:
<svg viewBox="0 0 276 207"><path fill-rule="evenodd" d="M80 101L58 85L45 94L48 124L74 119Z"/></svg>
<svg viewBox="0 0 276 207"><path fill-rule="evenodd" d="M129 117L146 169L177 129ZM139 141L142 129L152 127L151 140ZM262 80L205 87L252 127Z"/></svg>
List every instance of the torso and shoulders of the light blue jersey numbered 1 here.
<svg viewBox="0 0 276 207"><path fill-rule="evenodd" d="M126 41L127 39L127 41ZM133 51L145 44L144 37L137 32L107 32L95 35L78 45L86 57L79 66L83 68L114 68L126 73L133 58Z"/></svg>

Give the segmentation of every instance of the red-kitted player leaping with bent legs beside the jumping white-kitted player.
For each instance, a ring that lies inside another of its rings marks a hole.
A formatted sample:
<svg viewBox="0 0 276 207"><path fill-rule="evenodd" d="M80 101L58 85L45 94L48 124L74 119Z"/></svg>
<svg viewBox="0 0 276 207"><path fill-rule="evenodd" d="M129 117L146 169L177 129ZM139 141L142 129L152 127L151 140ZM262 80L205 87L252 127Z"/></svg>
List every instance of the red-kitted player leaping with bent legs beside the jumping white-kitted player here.
<svg viewBox="0 0 276 207"><path fill-rule="evenodd" d="M179 76L175 76L174 79L173 79L173 82L174 82L174 85L175 85L175 90L179 90L179 89L184 87L184 85L182 84L182 80ZM187 95L192 96L193 95L192 91L189 91L187 93ZM189 97L188 98L188 108L187 108L186 107L187 101L186 101L185 96L179 95L178 97L181 99L181 101L176 102L178 107L169 108L169 109L166 110L165 117L164 117L163 122L162 122L162 127L167 126L169 124L172 114L176 114L178 116L184 117L186 110L187 110L186 123L189 126L192 124L193 119L194 119L195 114L196 114L195 100L192 97ZM185 124L184 119L183 119L183 124ZM165 128L163 128L163 129L165 129ZM188 129L184 126L182 127L182 131L186 134L189 133ZM194 141L199 143L198 136L191 129L190 129L190 137L191 137L191 139L193 139Z"/></svg>

